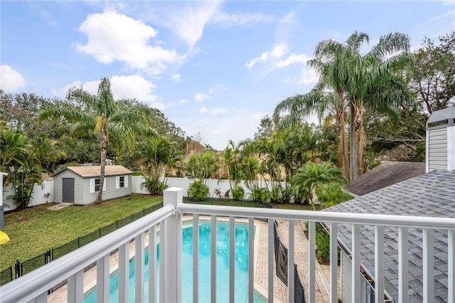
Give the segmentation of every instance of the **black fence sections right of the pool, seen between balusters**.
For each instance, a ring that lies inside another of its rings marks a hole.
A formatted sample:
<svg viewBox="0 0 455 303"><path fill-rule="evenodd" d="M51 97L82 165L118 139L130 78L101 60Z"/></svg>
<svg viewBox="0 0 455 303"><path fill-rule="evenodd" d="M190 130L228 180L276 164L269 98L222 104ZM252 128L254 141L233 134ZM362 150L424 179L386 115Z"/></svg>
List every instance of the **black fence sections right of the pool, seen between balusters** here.
<svg viewBox="0 0 455 303"><path fill-rule="evenodd" d="M273 229L274 238L274 249L275 249L275 265L277 267L277 276L287 286L287 263L288 250L279 239L277 232L277 222L274 222ZM299 272L297 271L297 265L294 264L294 302L305 303L305 291L303 285L301 285Z"/></svg>

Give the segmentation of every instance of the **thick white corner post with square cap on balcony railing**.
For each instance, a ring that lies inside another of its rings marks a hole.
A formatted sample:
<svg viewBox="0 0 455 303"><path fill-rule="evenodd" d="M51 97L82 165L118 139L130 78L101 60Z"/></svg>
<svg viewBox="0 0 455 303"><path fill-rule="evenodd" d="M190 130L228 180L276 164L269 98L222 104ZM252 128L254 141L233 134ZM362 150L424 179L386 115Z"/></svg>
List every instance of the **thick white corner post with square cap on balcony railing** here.
<svg viewBox="0 0 455 303"><path fill-rule="evenodd" d="M182 214L183 190L171 187L163 191L164 206L176 213L160 224L160 302L182 302Z"/></svg>

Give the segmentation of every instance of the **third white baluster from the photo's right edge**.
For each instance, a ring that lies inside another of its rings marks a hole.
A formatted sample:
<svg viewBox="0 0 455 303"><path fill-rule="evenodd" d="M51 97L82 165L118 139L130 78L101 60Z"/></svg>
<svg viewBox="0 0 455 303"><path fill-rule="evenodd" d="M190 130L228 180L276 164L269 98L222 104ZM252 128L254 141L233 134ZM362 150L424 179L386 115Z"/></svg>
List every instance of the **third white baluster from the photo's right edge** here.
<svg viewBox="0 0 455 303"><path fill-rule="evenodd" d="M407 303L409 301L409 262L407 259L408 246L407 228L398 228L398 302Z"/></svg>

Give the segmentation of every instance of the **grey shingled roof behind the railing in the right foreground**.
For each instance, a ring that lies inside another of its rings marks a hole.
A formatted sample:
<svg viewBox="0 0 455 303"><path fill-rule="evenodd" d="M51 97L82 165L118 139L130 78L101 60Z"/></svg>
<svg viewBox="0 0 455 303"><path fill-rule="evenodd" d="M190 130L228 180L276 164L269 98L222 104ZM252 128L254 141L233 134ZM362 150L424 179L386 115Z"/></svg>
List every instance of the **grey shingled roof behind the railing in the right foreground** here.
<svg viewBox="0 0 455 303"><path fill-rule="evenodd" d="M455 218L455 171L432 171L324 211ZM409 228L409 302L423 301L422 230ZM398 297L397 228L384 230L385 290ZM360 228L360 262L371 277L375 272L375 228ZM338 225L338 240L350 254L351 226ZM434 230L434 302L447 302L447 231ZM374 279L374 277L373 277Z"/></svg>

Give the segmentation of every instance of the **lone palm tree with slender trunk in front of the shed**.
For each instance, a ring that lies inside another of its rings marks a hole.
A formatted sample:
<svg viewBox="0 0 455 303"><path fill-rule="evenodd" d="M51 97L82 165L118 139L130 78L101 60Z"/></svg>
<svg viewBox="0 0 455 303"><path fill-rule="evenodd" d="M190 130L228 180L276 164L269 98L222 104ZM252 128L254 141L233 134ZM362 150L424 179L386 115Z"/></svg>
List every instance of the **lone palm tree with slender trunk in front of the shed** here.
<svg viewBox="0 0 455 303"><path fill-rule="evenodd" d="M130 146L133 146L135 132L153 133L145 126L146 107L141 107L139 110L139 107L134 107L129 102L114 100L108 78L101 79L97 95L90 94L82 87L73 87L68 91L67 99L79 102L81 107L51 105L41 111L39 119L64 118L68 122L75 123L73 124L75 134L87 134L95 131L100 136L100 188L102 188L105 181L109 139L117 139L117 141L126 139ZM95 203L101 201L102 191L98 191Z"/></svg>

